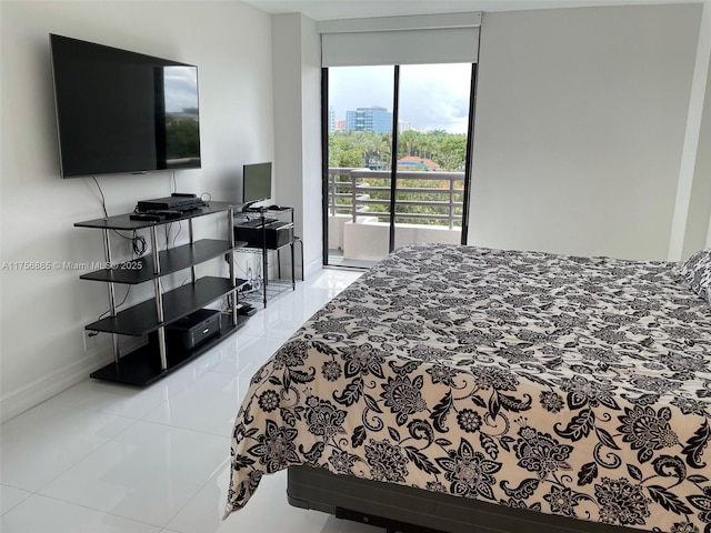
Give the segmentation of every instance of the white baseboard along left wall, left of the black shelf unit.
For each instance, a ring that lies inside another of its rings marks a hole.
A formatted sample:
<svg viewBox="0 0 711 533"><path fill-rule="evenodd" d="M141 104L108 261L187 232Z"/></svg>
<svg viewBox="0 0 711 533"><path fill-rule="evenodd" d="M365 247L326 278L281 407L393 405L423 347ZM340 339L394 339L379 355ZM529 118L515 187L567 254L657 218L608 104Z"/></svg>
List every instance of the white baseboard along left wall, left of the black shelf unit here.
<svg viewBox="0 0 711 533"><path fill-rule="evenodd" d="M111 350L87 354L76 363L0 396L0 422L17 416L56 394L89 378L89 374L113 360Z"/></svg>

